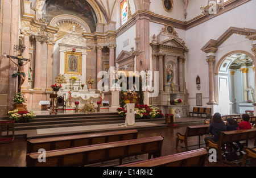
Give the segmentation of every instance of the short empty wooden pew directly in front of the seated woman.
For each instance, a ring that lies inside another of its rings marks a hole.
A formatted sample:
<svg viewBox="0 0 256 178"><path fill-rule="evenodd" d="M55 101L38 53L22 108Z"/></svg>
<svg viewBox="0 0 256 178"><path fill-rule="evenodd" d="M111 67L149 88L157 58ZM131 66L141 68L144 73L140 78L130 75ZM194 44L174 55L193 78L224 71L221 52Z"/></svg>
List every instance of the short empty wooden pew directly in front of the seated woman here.
<svg viewBox="0 0 256 178"><path fill-rule="evenodd" d="M188 151L188 137L189 136L199 136L199 148L200 148L200 136L201 135L205 135L205 134L209 134L209 125L196 125L196 126L187 126L187 129L185 131L185 134L180 134L180 133L176 133L177 135L177 139L176 139L176 148L178 146L179 141L184 142L185 143L185 148ZM197 146L193 145L193 146ZM189 146L191 147L191 146Z"/></svg>

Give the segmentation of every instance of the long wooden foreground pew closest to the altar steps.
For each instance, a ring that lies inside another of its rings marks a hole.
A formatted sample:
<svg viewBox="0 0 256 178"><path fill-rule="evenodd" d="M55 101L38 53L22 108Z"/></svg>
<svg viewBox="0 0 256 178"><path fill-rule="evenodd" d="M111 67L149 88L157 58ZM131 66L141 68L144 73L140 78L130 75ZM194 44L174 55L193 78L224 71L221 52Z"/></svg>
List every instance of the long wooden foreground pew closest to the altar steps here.
<svg viewBox="0 0 256 178"><path fill-rule="evenodd" d="M138 130L122 130L106 133L94 133L83 135L57 136L51 138L39 138L27 140L27 153L44 150L59 150L64 148L80 147L90 144L117 142L121 140L137 139Z"/></svg>

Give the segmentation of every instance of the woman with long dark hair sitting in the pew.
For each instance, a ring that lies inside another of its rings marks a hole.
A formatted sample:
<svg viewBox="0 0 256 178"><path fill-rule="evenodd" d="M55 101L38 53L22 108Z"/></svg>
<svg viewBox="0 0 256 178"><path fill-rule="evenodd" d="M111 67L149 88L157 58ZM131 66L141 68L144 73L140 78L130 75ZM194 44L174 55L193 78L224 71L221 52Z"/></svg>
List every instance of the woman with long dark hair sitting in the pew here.
<svg viewBox="0 0 256 178"><path fill-rule="evenodd" d="M220 138L220 134L222 131L226 131L226 125L221 118L221 114L215 113L209 125L209 133L212 134L212 136L208 136L204 138L205 144L207 144L206 140L208 138L212 139L214 142L217 142L218 139Z"/></svg>

